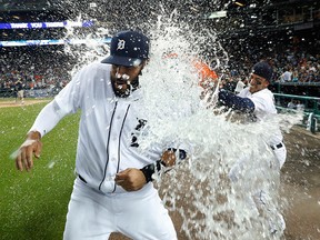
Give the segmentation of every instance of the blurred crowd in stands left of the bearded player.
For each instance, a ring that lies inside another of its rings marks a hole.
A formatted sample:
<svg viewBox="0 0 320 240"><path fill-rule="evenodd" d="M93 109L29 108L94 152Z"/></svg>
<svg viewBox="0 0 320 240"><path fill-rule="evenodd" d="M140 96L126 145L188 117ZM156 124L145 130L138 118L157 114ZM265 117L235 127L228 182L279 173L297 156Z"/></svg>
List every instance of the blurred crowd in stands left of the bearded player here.
<svg viewBox="0 0 320 240"><path fill-rule="evenodd" d="M72 60L61 48L8 48L1 50L0 91L13 92L17 82L23 89L62 89L70 80Z"/></svg>

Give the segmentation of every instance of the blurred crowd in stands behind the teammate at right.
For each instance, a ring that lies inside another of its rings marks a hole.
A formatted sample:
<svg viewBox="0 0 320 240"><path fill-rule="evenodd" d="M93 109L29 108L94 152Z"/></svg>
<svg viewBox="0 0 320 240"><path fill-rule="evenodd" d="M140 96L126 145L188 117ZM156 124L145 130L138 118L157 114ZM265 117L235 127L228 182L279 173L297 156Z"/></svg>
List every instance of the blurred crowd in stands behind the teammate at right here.
<svg viewBox="0 0 320 240"><path fill-rule="evenodd" d="M319 49L320 40L296 44L276 44L270 41L269 46L254 46L252 42L230 46L230 52L237 54L231 56L229 71L224 76L227 81L237 82L248 78L254 62L267 60L274 71L273 82L320 84Z"/></svg>

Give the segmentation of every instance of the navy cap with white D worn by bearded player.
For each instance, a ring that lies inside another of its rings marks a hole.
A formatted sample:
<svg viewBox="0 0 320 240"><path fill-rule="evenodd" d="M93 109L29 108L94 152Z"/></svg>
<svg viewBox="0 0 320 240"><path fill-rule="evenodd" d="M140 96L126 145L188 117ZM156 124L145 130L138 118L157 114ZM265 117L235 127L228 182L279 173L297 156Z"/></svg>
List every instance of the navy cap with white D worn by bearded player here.
<svg viewBox="0 0 320 240"><path fill-rule="evenodd" d="M149 39L138 31L121 31L112 37L110 56L102 63L137 67L149 59Z"/></svg>

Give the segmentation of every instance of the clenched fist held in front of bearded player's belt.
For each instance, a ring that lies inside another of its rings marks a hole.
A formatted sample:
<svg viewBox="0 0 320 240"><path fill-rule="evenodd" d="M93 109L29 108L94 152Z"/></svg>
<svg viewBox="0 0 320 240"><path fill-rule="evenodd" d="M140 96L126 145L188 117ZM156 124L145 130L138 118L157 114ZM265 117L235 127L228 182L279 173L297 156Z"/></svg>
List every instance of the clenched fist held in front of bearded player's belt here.
<svg viewBox="0 0 320 240"><path fill-rule="evenodd" d="M114 179L118 186L121 186L126 191L137 191L146 184L146 178L142 171L134 168L126 169L116 174Z"/></svg>

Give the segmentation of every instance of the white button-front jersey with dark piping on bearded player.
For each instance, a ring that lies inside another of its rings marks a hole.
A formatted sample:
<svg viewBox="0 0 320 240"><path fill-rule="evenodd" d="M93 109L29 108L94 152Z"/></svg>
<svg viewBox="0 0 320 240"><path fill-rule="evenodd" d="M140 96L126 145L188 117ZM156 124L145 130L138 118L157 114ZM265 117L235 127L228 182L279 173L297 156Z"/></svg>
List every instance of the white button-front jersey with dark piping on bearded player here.
<svg viewBox="0 0 320 240"><path fill-rule="evenodd" d="M139 110L141 92L117 98L110 70L106 63L84 67L54 99L64 113L81 110L76 171L106 193L124 191L114 183L117 172L154 162L163 150L159 146L144 153L138 150L134 132L146 123Z"/></svg>

